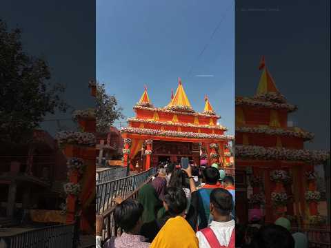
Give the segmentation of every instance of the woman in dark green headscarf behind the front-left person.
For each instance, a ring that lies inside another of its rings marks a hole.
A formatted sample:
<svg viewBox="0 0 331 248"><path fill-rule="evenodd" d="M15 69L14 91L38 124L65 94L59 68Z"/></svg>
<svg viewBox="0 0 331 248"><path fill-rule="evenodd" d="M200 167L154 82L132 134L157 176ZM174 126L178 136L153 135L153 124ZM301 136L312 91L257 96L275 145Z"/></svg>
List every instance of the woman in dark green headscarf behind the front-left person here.
<svg viewBox="0 0 331 248"><path fill-rule="evenodd" d="M163 206L157 192L150 183L143 185L138 193L138 201L143 205L143 223L148 223L157 218L157 211Z"/></svg>

